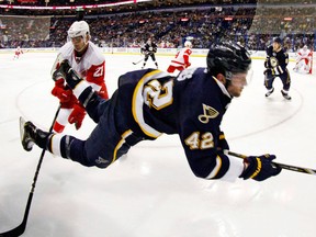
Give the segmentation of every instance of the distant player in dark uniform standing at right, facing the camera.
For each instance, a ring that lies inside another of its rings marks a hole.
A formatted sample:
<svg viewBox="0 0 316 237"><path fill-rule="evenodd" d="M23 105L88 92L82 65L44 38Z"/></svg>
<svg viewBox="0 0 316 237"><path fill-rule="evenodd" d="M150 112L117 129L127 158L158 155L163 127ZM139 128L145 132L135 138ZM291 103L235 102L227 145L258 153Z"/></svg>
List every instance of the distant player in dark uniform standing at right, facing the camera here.
<svg viewBox="0 0 316 237"><path fill-rule="evenodd" d="M266 97L270 97L273 91L273 81L279 77L283 83L283 89L281 90L282 95L286 100L291 100L289 95L289 90L291 86L290 72L286 68L289 64L289 55L282 48L282 42L280 37L275 37L271 46L267 48L267 58L264 61L264 87L268 92Z"/></svg>

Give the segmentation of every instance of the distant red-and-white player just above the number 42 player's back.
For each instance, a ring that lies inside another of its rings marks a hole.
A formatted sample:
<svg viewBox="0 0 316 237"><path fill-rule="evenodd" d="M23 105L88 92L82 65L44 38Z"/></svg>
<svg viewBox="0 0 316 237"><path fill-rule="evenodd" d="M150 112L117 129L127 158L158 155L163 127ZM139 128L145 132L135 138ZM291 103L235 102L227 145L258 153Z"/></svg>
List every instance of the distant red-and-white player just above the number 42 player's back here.
<svg viewBox="0 0 316 237"><path fill-rule="evenodd" d="M191 66L189 61L189 56L192 54L192 43L190 41L184 42L184 48L180 49L174 59L171 60L170 66L168 67L167 71L172 74L176 69L179 71L184 70L185 68Z"/></svg>

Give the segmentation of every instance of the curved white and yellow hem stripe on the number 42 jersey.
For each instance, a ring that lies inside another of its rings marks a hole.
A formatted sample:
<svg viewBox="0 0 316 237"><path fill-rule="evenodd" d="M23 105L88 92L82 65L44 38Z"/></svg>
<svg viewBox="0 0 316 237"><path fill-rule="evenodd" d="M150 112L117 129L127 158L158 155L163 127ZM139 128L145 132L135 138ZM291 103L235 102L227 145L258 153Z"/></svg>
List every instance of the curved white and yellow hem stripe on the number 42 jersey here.
<svg viewBox="0 0 316 237"><path fill-rule="evenodd" d="M153 70L144 75L144 77L138 81L133 94L132 112L134 120L139 125L143 133L153 138L159 137L161 133L145 123L143 114L143 105L144 105L143 89L144 84L147 83L147 81L167 76L169 75L160 70Z"/></svg>

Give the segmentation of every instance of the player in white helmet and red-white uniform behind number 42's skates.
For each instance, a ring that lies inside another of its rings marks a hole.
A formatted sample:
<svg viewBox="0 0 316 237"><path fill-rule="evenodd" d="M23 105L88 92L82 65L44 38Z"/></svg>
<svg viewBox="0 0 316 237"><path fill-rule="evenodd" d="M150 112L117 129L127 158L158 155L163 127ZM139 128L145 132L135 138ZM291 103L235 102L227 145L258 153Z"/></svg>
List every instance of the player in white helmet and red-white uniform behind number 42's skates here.
<svg viewBox="0 0 316 237"><path fill-rule="evenodd" d="M53 71L59 67L63 59L67 59L74 70L82 77L100 94L108 99L104 82L105 59L101 50L90 41L90 29L86 21L76 21L68 31L69 42L59 50ZM70 123L76 128L81 127L86 112L72 91L65 84L63 78L56 80L52 94L60 102L60 111L54 124L54 132L61 133Z"/></svg>

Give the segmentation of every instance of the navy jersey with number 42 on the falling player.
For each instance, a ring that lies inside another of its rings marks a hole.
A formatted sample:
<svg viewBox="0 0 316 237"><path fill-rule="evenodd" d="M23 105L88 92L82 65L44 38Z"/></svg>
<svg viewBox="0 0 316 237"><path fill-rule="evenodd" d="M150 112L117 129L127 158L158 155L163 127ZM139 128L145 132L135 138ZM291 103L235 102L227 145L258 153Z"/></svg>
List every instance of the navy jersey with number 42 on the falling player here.
<svg viewBox="0 0 316 237"><path fill-rule="evenodd" d="M155 69L127 72L119 79L116 97L116 121L124 120L145 139L179 134L198 177L216 179L226 173L229 160L217 144L232 98L205 68L183 70L177 78Z"/></svg>

